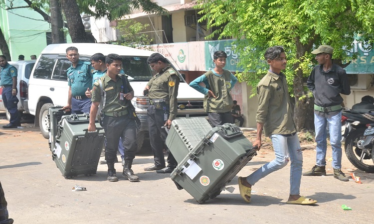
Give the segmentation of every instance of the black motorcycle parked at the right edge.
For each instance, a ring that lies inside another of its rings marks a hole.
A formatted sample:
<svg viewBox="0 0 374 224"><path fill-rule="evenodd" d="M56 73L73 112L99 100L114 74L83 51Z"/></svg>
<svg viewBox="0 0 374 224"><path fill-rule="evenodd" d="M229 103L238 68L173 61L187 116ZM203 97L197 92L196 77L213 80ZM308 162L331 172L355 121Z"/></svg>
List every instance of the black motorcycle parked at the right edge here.
<svg viewBox="0 0 374 224"><path fill-rule="evenodd" d="M347 108L342 112L342 142L345 141L347 158L355 167L367 173L374 173L373 144L364 143L370 139L374 141L374 128L371 130L373 136L369 134L371 131L367 131L369 126L374 126L373 112Z"/></svg>

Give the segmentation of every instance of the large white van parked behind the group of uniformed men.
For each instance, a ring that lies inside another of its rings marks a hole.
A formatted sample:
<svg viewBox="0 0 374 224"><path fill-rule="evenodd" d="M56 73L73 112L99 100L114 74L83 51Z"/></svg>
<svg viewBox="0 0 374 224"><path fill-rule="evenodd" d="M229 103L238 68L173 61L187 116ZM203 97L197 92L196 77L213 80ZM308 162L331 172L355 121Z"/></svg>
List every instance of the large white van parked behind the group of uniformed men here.
<svg viewBox="0 0 374 224"><path fill-rule="evenodd" d="M125 74L134 89L132 103L142 122L141 131L138 133L138 149L143 145L148 134L147 107L149 100L143 96L143 90L154 75L147 63L147 58L155 53L131 47L97 44L97 43L72 43L50 44L40 53L28 84L28 112L35 115L35 126L40 126L40 131L48 138L48 108L51 106L65 106L68 97L68 84L66 70L70 62L66 58L66 48L78 48L79 59L89 61L91 55L102 53L108 55L118 54L122 57ZM181 84L178 91L178 105L183 110L178 110L178 116L206 116L203 110L203 95L188 86L181 74ZM188 105L188 106L187 106ZM185 106L185 107L183 107Z"/></svg>

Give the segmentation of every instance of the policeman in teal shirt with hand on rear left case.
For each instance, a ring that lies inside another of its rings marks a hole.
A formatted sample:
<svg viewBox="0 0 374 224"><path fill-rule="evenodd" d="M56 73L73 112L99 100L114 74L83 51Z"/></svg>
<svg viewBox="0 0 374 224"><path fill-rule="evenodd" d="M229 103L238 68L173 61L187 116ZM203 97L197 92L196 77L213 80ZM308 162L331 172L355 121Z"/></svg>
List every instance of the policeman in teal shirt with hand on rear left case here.
<svg viewBox="0 0 374 224"><path fill-rule="evenodd" d="M66 48L66 57L71 62L71 66L66 70L69 95L67 105L63 107L65 111L71 113L89 113L91 100L86 96L87 88L92 88L91 62L79 60L79 53L76 47Z"/></svg>

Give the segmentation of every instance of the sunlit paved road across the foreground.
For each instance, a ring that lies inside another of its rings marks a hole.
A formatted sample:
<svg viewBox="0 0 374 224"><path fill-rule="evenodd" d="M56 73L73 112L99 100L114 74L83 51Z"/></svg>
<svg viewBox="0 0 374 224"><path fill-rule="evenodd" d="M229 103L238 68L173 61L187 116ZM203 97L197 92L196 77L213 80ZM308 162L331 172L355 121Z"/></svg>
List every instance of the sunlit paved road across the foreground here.
<svg viewBox="0 0 374 224"><path fill-rule="evenodd" d="M1 115L2 126L7 121ZM372 223L374 174L361 173L363 184L343 183L331 175L302 178L302 195L319 203L288 205L287 166L256 184L251 204L242 201L235 178L230 183L235 187L232 194L224 191L200 205L185 190L179 191L169 175L143 171L152 165L151 155L137 156L134 161L139 183L122 176L119 182L108 182L106 165L99 165L94 176L66 180L51 159L48 141L32 124L22 126L25 128L0 127L0 179L10 218L16 224ZM304 155L313 153L309 151ZM238 175L253 172L266 162L263 160L255 157ZM121 164L115 166L120 174ZM360 171L355 173L360 175ZM71 191L76 184L87 191ZM353 210L342 210L343 204Z"/></svg>

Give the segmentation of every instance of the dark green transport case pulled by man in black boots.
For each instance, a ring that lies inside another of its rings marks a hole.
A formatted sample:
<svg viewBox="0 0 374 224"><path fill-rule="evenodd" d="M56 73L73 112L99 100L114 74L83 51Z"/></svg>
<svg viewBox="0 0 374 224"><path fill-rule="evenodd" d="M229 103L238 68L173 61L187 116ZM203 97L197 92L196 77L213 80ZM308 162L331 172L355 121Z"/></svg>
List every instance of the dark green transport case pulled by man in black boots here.
<svg viewBox="0 0 374 224"><path fill-rule="evenodd" d="M96 174L104 143L104 130L96 122L96 131L88 132L90 115L64 115L58 123L52 157L68 179L80 174Z"/></svg>

